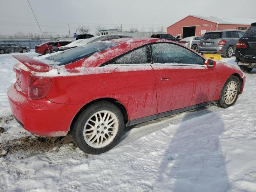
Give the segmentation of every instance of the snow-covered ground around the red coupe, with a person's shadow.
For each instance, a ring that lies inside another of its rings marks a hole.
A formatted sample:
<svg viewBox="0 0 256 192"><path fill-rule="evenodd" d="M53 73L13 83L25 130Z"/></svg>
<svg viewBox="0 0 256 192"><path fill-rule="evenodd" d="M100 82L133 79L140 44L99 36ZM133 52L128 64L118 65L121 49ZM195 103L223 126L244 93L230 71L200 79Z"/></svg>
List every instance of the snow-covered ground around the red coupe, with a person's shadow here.
<svg viewBox="0 0 256 192"><path fill-rule="evenodd" d="M0 55L1 192L256 191L256 70L234 106L138 124L109 152L88 155L70 136L31 136L14 120L6 95L15 81L12 55Z"/></svg>

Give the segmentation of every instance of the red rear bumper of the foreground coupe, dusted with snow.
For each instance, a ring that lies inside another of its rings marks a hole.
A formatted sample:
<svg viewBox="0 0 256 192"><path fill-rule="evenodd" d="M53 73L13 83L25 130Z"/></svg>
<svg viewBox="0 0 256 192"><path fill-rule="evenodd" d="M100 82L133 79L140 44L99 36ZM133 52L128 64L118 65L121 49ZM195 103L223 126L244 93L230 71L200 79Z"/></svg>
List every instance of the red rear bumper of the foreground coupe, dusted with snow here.
<svg viewBox="0 0 256 192"><path fill-rule="evenodd" d="M8 90L12 114L32 134L40 136L66 136L70 124L82 104L57 104L47 98L30 100L15 86Z"/></svg>

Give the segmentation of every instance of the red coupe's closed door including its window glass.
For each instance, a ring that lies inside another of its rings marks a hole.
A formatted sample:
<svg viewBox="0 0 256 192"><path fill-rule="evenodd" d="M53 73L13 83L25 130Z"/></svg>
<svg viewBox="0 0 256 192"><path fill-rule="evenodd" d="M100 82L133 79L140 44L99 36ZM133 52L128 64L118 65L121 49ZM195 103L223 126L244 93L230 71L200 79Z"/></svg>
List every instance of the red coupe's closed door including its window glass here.
<svg viewBox="0 0 256 192"><path fill-rule="evenodd" d="M209 102L217 89L217 74L205 60L183 46L152 44L158 113Z"/></svg>

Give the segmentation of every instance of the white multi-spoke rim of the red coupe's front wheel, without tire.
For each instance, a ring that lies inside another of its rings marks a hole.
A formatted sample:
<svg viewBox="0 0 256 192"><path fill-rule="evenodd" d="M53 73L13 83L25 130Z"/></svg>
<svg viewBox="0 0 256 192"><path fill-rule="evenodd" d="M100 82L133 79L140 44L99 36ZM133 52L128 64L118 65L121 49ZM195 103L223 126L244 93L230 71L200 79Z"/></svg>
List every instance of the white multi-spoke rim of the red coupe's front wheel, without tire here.
<svg viewBox="0 0 256 192"><path fill-rule="evenodd" d="M236 100L236 95L238 91L238 85L235 81L230 81L226 86L224 93L224 100L226 104L230 105Z"/></svg>

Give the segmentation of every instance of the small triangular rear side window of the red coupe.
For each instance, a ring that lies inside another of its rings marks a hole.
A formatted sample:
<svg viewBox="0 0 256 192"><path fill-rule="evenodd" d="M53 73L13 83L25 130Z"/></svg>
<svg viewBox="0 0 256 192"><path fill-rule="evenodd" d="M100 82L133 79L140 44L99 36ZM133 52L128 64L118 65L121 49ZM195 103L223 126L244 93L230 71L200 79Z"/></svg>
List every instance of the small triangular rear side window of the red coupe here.
<svg viewBox="0 0 256 192"><path fill-rule="evenodd" d="M133 50L120 58L117 58L111 64L149 64L151 63L150 46L144 46Z"/></svg>

